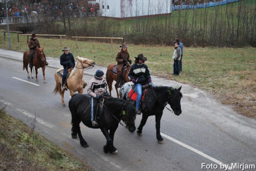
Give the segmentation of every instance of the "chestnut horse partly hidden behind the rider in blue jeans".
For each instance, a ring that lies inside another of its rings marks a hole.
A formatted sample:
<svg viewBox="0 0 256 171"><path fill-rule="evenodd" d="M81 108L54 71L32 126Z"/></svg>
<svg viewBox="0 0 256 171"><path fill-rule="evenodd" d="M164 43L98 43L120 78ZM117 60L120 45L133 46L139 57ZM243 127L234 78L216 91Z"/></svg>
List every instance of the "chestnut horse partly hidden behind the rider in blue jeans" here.
<svg viewBox="0 0 256 171"><path fill-rule="evenodd" d="M112 91L112 83L113 81L117 80L117 75L114 74L111 70L114 68L114 66L116 65L109 65L108 66L108 69L107 69L107 72L106 72L106 82L108 84L108 88L109 88L109 93L111 95L111 91ZM124 77L122 78L122 81L123 82L130 82L130 79L128 78L128 74L129 74L129 71L130 71L130 66L127 67L127 70L126 70L126 73L124 74ZM116 87L116 95L117 95L117 98L119 98L119 93L118 93L118 87L117 87L117 83L115 84L115 87Z"/></svg>

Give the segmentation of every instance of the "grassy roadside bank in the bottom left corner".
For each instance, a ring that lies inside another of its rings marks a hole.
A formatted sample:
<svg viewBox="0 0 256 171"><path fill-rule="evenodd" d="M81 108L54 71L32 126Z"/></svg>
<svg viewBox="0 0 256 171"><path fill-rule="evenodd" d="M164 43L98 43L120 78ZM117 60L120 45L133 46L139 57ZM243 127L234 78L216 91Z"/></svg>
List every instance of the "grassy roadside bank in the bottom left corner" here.
<svg viewBox="0 0 256 171"><path fill-rule="evenodd" d="M1 171L92 171L86 163L34 131L36 117L22 121L7 115L0 103Z"/></svg>

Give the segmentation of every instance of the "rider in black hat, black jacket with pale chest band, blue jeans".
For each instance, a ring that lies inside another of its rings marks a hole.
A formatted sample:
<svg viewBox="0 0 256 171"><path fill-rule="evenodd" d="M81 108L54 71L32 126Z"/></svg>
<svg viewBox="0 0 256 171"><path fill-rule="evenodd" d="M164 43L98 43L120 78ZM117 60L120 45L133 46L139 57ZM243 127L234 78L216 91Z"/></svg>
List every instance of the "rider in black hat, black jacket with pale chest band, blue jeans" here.
<svg viewBox="0 0 256 171"><path fill-rule="evenodd" d="M130 80L135 84L136 91L137 91L137 99L136 99L136 112L138 115L141 114L139 109L140 106L140 99L142 97L142 86L146 85L147 83L151 83L151 76L150 71L148 70L148 66L144 63L147 60L143 54L139 54L134 61L134 64L130 68L130 72L128 77Z"/></svg>

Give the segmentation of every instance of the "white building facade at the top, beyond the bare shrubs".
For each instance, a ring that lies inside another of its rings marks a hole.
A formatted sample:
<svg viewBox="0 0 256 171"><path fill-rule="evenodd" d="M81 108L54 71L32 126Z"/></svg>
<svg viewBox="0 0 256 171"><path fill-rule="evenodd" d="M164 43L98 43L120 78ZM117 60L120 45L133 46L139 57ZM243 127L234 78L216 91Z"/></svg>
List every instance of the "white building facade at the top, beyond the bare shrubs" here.
<svg viewBox="0 0 256 171"><path fill-rule="evenodd" d="M172 0L96 0L100 4L100 15L114 18L130 18L170 14Z"/></svg>

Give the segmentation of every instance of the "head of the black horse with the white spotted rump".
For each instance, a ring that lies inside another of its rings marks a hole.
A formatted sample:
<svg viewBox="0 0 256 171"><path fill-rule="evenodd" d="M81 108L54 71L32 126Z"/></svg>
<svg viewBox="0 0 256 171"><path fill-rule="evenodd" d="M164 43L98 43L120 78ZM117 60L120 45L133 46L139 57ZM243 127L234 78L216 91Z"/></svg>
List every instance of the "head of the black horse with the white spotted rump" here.
<svg viewBox="0 0 256 171"><path fill-rule="evenodd" d="M169 87L169 89L167 90L169 93L168 103L171 106L172 110L174 111L175 115L180 115L182 112L181 105L180 105L182 93L180 92L180 90L181 90L181 86L178 89Z"/></svg>

